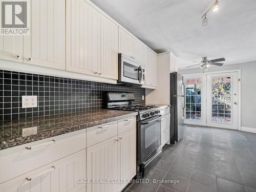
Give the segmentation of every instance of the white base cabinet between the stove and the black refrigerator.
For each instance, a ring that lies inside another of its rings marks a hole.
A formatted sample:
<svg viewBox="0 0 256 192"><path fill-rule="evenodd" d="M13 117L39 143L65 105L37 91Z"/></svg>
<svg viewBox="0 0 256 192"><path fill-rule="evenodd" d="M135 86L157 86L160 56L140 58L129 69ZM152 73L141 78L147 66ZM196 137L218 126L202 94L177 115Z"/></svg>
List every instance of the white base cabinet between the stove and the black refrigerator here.
<svg viewBox="0 0 256 192"><path fill-rule="evenodd" d="M170 140L170 114L161 118L161 147Z"/></svg>

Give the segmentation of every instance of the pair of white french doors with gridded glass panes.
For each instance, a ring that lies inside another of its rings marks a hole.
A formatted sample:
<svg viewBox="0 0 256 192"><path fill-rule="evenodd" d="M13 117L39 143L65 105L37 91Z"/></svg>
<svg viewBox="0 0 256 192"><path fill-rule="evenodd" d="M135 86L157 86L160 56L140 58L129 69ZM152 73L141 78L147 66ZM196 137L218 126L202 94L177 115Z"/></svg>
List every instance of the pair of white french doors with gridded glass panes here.
<svg viewBox="0 0 256 192"><path fill-rule="evenodd" d="M238 72L184 76L184 123L238 130Z"/></svg>

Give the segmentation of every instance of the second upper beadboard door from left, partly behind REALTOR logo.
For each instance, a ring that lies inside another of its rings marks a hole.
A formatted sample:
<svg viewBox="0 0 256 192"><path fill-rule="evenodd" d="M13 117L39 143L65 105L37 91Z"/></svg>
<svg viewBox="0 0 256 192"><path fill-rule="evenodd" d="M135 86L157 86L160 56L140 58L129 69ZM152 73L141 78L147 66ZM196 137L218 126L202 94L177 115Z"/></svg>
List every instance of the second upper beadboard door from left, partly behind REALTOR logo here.
<svg viewBox="0 0 256 192"><path fill-rule="evenodd" d="M32 0L24 63L65 70L65 0Z"/></svg>

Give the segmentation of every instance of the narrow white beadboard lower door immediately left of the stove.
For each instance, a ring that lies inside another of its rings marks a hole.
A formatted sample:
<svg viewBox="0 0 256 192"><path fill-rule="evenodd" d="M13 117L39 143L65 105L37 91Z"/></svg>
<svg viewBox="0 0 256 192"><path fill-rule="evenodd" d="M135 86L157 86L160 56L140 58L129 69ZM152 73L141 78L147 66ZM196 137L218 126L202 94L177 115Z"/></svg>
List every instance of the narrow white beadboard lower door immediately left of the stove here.
<svg viewBox="0 0 256 192"><path fill-rule="evenodd" d="M136 129L118 135L119 191L136 175Z"/></svg>

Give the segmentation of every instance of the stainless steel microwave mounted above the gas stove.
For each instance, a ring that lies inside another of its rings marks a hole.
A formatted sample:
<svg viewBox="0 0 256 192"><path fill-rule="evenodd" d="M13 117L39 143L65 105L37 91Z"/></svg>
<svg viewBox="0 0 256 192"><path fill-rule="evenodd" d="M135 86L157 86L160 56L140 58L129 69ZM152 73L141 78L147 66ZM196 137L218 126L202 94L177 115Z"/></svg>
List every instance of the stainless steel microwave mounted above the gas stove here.
<svg viewBox="0 0 256 192"><path fill-rule="evenodd" d="M118 54L118 83L134 84L142 86L145 84L145 69L142 63L132 57Z"/></svg>

